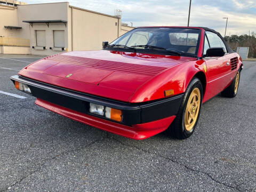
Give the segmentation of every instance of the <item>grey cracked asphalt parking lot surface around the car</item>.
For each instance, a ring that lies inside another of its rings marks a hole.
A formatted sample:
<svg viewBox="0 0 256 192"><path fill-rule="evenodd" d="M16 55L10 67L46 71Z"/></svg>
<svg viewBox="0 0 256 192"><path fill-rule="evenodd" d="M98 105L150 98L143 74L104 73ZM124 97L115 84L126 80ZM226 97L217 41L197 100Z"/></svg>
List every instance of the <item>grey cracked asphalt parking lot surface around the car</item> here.
<svg viewBox="0 0 256 192"><path fill-rule="evenodd" d="M243 62L236 98L204 103L190 138L135 141L16 90L10 76L38 59L0 55L0 191L256 191L255 61Z"/></svg>

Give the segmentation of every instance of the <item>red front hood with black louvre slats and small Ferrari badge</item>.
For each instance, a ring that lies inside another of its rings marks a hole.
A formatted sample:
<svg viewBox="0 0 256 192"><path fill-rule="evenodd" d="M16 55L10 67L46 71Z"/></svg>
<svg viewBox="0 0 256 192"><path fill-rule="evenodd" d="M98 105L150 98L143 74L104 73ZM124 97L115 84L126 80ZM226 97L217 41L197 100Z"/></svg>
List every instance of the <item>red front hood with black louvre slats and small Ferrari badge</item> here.
<svg viewBox="0 0 256 192"><path fill-rule="evenodd" d="M129 102L139 87L167 68L195 58L118 51L75 51L52 55L19 75L67 89Z"/></svg>

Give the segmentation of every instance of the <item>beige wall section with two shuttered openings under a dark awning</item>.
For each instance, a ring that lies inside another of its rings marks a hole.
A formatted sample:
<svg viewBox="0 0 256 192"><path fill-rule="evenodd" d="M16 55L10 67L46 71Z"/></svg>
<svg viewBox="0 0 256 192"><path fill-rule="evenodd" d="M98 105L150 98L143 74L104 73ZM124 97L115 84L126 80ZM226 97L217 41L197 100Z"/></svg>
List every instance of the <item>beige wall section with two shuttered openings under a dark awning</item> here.
<svg viewBox="0 0 256 192"><path fill-rule="evenodd" d="M45 3L45 4L28 4L18 5L18 20L22 28L21 31L23 38L30 39L31 54L36 55L52 55L63 51L61 49L54 49L53 44L53 31L64 30L65 31L65 51L68 47L68 23L67 26L64 23L49 23L49 27L46 23L33 23L33 27L26 22L31 20L68 20L68 2L63 3ZM45 30L46 46L45 49L38 47L36 44L36 30ZM34 48L32 48L34 47ZM51 49L50 49L51 47Z"/></svg>

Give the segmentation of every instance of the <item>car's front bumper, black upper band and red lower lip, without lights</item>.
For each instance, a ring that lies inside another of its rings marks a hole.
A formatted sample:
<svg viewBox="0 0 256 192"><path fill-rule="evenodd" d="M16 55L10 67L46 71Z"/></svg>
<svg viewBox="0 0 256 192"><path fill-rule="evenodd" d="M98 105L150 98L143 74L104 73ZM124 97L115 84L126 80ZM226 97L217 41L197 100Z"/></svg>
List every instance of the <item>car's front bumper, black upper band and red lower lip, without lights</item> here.
<svg viewBox="0 0 256 192"><path fill-rule="evenodd" d="M95 95L63 89L33 79L14 75L11 80L27 84L36 104L55 113L75 119L100 129L133 139L146 139L166 130L172 123L183 94L163 100L126 103ZM122 122L91 114L90 102L122 110Z"/></svg>

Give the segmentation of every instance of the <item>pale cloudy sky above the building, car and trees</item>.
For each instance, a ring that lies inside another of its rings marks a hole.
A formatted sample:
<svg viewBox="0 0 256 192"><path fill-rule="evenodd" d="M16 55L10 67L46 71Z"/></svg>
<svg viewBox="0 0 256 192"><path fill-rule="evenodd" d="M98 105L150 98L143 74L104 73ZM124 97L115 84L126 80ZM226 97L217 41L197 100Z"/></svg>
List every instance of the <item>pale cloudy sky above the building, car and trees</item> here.
<svg viewBox="0 0 256 192"><path fill-rule="evenodd" d="M63 2L59 0L23 0L28 4ZM122 22L133 26L186 26L189 0L69 0L84 9L114 15L122 10ZM256 32L256 0L192 0L190 26L203 26L227 35Z"/></svg>

